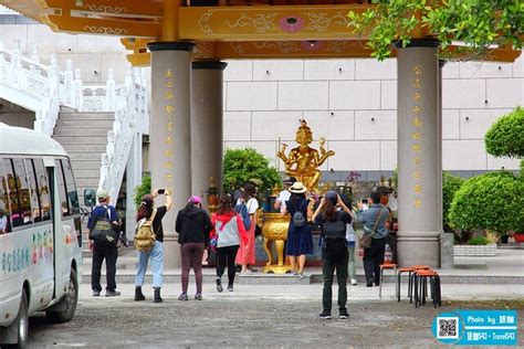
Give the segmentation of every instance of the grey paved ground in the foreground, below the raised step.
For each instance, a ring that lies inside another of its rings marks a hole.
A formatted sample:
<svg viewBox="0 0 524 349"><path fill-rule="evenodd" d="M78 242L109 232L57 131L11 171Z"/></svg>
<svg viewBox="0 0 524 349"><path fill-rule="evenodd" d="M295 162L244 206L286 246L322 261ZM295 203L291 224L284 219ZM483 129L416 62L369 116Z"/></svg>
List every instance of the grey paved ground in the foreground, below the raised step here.
<svg viewBox="0 0 524 349"><path fill-rule="evenodd" d="M148 299L136 303L133 285L119 285L118 298L94 298L82 285L73 321L49 325L44 317L31 318L31 347L434 347L433 317L460 308L517 308L524 346L521 286L446 285L444 306L439 309L415 309L406 299L396 302L392 285L386 285L381 300L376 287L349 286L348 320L317 318L322 285L237 285L234 293L218 294L213 285L205 284L202 302L177 300L179 287L165 285L165 303L153 304L149 288L145 288ZM514 300L476 300L481 298Z"/></svg>

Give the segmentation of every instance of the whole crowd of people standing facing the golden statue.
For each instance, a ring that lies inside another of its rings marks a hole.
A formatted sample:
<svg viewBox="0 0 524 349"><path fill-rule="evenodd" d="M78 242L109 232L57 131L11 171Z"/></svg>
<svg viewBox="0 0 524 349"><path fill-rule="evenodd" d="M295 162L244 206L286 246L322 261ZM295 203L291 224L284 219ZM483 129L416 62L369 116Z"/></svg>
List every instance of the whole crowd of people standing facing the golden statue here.
<svg viewBox="0 0 524 349"><path fill-rule="evenodd" d="M312 225L321 230L319 247L323 262L323 311L319 317L332 317L332 288L336 273L338 284L338 314L340 319L349 317L347 311L347 283L356 285L355 250L356 236L353 229L358 221L364 226L364 235L370 237L369 246L364 248L364 269L366 286L378 286L380 283L379 265L384 263L385 237L387 231L388 209L380 203L380 193L373 192L368 205L357 203L354 212L335 191L328 191L323 198L307 191L302 182L290 178L284 182L285 189L274 202L274 209L281 214L290 214L290 225L285 254L289 257L292 274L304 276L306 255L314 252ZM159 195L165 197L165 203L156 205ZM217 212L211 216L202 208L200 197L190 197L187 204L178 212L175 231L178 233L181 255L181 293L179 300L188 300L189 273L193 269L196 278L195 299L202 300L202 257L205 251L216 252L216 284L219 293L223 292L222 276L228 271L228 292L233 292L237 266L240 273L252 273L255 265L255 226L259 202L256 187L247 182L242 190L220 197ZM87 222L90 247L93 251L92 289L93 296L99 296L101 267L105 260L107 287L106 296L119 296L116 290L115 272L118 243L99 236L111 235L111 230L119 230L122 221L115 208L109 204L105 190L97 192L98 204L92 210ZM163 269L164 269L164 228L163 219L172 209L172 197L167 189L157 189L151 194L142 198L137 210L137 271L135 277L135 300L145 300L143 293L144 278L150 261L153 273L154 302L161 303ZM103 231L106 222L111 226ZM102 226L102 228L101 228ZM101 233L101 231L103 231ZM118 239L116 239L118 241Z"/></svg>

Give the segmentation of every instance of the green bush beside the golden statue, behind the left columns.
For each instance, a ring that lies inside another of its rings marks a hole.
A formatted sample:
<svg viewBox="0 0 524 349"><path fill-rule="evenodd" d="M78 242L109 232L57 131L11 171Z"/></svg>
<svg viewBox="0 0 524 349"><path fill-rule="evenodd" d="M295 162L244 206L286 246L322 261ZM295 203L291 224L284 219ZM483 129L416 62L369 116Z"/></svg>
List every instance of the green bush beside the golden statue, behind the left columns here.
<svg viewBox="0 0 524 349"><path fill-rule="evenodd" d="M223 158L223 189L242 186L248 180L258 180L259 190L265 192L282 180L275 168L270 167L269 160L252 148L228 149Z"/></svg>

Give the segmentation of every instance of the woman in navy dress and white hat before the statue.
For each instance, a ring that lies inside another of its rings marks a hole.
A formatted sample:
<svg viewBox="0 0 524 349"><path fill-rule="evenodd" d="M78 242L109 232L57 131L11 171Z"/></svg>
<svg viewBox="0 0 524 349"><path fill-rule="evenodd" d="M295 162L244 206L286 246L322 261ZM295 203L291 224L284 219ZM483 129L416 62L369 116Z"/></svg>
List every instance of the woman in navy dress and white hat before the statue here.
<svg viewBox="0 0 524 349"><path fill-rule="evenodd" d="M291 198L285 202L282 214L291 214L287 229L285 255L290 257L293 275L304 276L306 254L313 254L313 237L307 219L313 215L313 204L305 198L306 188L302 182L294 182L290 188ZM298 260L298 271L296 271Z"/></svg>

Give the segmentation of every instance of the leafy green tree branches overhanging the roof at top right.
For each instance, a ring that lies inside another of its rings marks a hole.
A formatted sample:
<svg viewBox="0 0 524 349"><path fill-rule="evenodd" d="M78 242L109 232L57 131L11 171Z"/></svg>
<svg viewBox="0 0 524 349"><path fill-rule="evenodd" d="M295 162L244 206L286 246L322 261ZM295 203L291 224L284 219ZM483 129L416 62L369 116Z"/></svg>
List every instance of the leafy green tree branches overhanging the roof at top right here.
<svg viewBox="0 0 524 349"><path fill-rule="evenodd" d="M368 35L371 56L382 61L395 43L406 47L420 34L418 29L431 33L442 49L463 42L470 56L481 55L492 44L522 49L522 13L521 0L379 0L361 14L350 11L348 19L354 32Z"/></svg>

